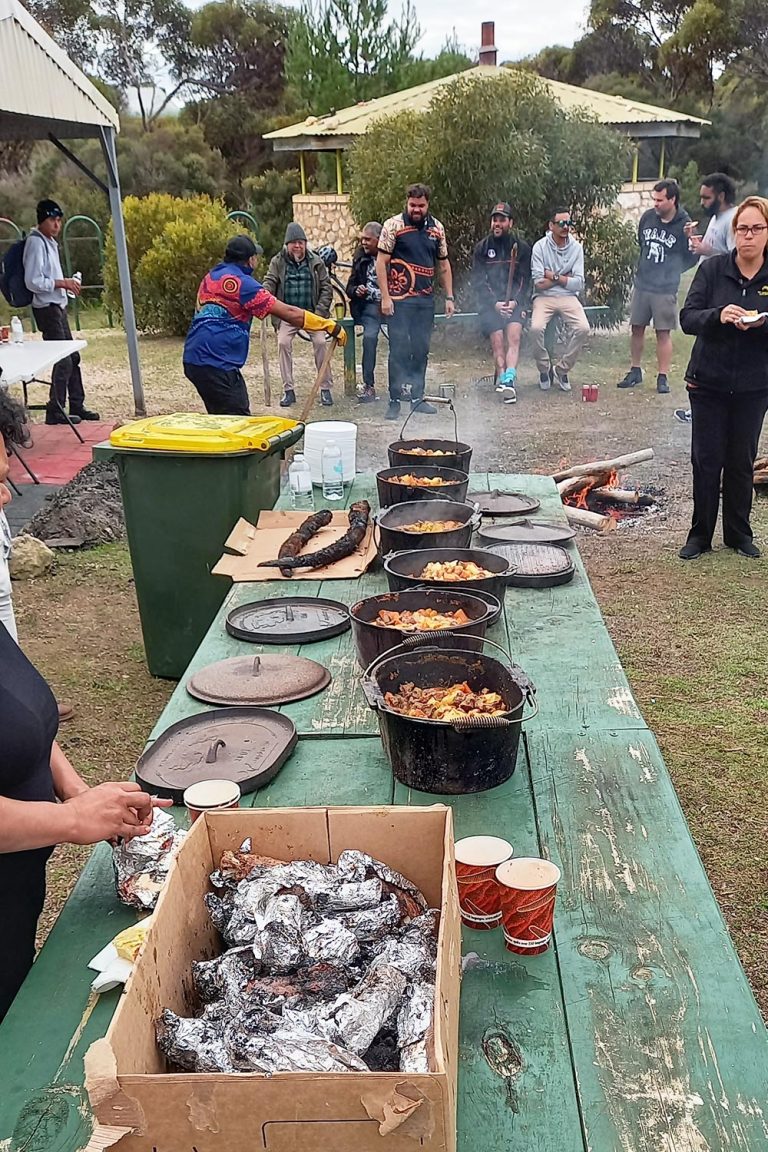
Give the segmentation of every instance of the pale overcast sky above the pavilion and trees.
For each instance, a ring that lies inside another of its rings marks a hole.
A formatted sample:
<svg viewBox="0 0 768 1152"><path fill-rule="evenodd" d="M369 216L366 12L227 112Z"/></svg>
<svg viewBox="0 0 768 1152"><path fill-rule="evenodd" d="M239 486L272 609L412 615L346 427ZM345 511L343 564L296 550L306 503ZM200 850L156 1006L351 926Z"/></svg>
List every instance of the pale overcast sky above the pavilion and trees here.
<svg viewBox="0 0 768 1152"><path fill-rule="evenodd" d="M299 7L299 2L288 0L291 7ZM454 30L461 44L477 51L481 22L494 20L501 63L548 44L573 44L585 31L588 0L507 0L499 6L486 0L477 8L466 0L415 0L415 6L424 29L419 51L425 55L435 55ZM398 0L390 0L390 12L397 7Z"/></svg>

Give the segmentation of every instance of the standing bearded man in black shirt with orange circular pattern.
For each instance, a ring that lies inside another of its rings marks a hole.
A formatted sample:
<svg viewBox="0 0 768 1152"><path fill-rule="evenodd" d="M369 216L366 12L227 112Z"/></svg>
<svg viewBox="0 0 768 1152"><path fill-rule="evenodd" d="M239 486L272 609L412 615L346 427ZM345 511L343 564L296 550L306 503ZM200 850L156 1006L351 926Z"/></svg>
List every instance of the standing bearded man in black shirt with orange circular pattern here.
<svg viewBox="0 0 768 1152"><path fill-rule="evenodd" d="M411 409L434 415L424 400L429 341L434 324L435 270L446 291L446 316L453 316L454 278L446 230L429 214L426 184L406 190L405 211L385 222L379 237L377 276L381 314L389 332L389 408L387 419L400 416L403 388L411 386Z"/></svg>

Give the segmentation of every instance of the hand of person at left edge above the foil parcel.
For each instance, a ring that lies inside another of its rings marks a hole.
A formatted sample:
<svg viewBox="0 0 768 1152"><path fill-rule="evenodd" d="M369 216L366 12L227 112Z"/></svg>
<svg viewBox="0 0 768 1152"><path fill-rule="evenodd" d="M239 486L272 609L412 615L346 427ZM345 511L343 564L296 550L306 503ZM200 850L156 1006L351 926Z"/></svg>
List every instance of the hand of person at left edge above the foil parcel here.
<svg viewBox="0 0 768 1152"><path fill-rule="evenodd" d="M144 836L152 826L152 810L170 803L147 795L131 780L97 785L61 805L68 818L67 841L96 844L116 836Z"/></svg>

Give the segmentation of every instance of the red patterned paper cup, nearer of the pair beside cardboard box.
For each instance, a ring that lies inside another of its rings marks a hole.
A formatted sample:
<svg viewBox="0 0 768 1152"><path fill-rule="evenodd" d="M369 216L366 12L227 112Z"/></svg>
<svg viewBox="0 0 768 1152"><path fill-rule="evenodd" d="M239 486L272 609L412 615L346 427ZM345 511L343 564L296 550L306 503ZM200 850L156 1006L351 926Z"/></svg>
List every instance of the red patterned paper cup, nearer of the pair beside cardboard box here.
<svg viewBox="0 0 768 1152"><path fill-rule="evenodd" d="M552 861L519 856L496 869L501 923L508 952L538 956L552 941L560 869Z"/></svg>

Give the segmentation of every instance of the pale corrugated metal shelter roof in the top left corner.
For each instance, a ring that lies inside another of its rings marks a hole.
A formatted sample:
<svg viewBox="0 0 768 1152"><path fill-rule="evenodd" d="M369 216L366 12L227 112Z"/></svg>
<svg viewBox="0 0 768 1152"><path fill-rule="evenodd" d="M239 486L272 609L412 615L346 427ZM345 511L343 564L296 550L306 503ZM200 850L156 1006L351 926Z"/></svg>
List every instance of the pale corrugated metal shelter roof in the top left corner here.
<svg viewBox="0 0 768 1152"><path fill-rule="evenodd" d="M0 136L96 136L117 113L18 0L0 0Z"/></svg>

